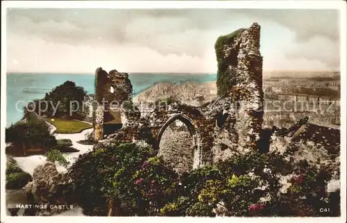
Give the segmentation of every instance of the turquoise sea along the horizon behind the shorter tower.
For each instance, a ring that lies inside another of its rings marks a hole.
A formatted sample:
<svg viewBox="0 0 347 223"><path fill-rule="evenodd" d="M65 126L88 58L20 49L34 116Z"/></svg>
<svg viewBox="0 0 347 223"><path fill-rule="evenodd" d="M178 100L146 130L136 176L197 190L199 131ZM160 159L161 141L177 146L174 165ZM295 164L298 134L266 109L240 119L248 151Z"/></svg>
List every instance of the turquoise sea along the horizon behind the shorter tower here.
<svg viewBox="0 0 347 223"><path fill-rule="evenodd" d="M195 73L129 73L133 85L133 97L150 88L155 83L205 83L216 81L217 74ZM37 74L8 73L6 75L6 127L15 124L23 117L23 106L29 101L42 99L46 92L65 81L74 81L83 87L87 94L94 94L94 74Z"/></svg>

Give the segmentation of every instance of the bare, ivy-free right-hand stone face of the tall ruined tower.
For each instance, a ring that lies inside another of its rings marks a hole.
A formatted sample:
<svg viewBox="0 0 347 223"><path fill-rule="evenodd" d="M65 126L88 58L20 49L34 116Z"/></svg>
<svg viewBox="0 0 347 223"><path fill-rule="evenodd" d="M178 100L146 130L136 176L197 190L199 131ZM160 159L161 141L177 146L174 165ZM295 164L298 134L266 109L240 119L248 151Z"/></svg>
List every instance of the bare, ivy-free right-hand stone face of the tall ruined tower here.
<svg viewBox="0 0 347 223"><path fill-rule="evenodd" d="M262 129L264 104L262 92L262 56L260 56L260 26L252 24L240 34L241 42L237 55L237 76L241 81L237 90L246 90L239 99L235 128L239 135L239 147L256 149ZM237 94L234 91L232 94Z"/></svg>

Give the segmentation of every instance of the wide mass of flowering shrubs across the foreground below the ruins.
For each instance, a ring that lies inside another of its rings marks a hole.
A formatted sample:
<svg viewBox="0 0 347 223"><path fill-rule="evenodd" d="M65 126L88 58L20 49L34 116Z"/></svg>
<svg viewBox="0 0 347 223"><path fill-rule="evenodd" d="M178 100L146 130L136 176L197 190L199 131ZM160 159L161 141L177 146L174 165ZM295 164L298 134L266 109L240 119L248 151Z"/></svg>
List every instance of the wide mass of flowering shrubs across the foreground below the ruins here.
<svg viewBox="0 0 347 223"><path fill-rule="evenodd" d="M323 190L331 178L328 169L305 162L292 165L276 152L238 154L177 174L149 147L97 144L69 174L87 215L108 215L110 206L118 216L337 215L319 212L337 202ZM288 174L284 191L280 182Z"/></svg>

